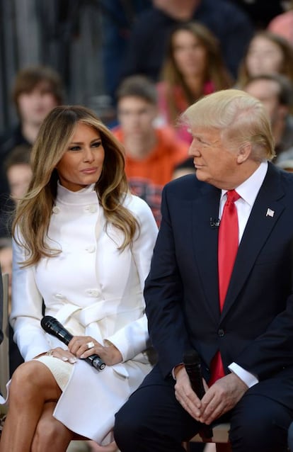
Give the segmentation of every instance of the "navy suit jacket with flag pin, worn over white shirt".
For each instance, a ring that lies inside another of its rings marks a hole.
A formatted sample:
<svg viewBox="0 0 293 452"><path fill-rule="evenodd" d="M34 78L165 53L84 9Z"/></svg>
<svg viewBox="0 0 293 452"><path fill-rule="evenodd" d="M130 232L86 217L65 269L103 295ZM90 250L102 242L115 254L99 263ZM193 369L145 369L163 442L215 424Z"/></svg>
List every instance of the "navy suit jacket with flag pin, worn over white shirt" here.
<svg viewBox="0 0 293 452"><path fill-rule="evenodd" d="M169 375L185 350L195 348L208 380L219 349L226 373L235 361L260 381L276 375L293 381L293 176L269 164L222 313L218 228L210 225L210 218L219 215L220 194L193 175L168 183L163 191L163 220L145 288L161 373Z"/></svg>

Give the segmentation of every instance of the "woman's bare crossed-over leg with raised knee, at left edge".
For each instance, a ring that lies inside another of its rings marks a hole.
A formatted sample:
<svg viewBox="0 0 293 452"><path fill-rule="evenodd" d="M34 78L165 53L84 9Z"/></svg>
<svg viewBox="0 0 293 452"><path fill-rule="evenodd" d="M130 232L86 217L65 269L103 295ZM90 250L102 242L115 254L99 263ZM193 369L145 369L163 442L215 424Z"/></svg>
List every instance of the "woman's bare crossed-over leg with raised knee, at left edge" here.
<svg viewBox="0 0 293 452"><path fill-rule="evenodd" d="M50 370L38 361L21 364L13 373L9 407L1 434L1 452L30 452L45 403L57 402L61 390Z"/></svg>

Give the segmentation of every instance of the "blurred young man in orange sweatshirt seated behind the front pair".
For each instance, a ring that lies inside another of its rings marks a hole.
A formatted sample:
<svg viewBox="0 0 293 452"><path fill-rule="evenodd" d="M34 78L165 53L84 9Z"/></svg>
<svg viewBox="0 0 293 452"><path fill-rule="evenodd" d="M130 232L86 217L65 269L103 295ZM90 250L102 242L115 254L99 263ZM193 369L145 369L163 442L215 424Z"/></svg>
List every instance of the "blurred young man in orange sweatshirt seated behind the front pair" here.
<svg viewBox="0 0 293 452"><path fill-rule="evenodd" d="M125 147L125 171L134 194L161 221L161 191L177 164L188 157L188 144L171 127L156 127L156 86L144 76L127 77L117 90L118 125L113 133Z"/></svg>

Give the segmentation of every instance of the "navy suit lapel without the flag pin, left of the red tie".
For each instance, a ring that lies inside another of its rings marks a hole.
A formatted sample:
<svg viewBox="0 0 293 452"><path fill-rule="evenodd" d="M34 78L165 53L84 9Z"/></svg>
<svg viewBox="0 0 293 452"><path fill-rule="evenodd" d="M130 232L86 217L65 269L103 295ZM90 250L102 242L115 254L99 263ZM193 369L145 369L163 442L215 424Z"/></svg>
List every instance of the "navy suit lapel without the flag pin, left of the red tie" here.
<svg viewBox="0 0 293 452"><path fill-rule="evenodd" d="M201 189L201 196L193 201L193 253L200 274L202 290L205 293L207 304L212 316L219 317L218 300L218 266L217 242L218 228L211 226L211 218L219 217L219 198L221 191L213 186Z"/></svg>

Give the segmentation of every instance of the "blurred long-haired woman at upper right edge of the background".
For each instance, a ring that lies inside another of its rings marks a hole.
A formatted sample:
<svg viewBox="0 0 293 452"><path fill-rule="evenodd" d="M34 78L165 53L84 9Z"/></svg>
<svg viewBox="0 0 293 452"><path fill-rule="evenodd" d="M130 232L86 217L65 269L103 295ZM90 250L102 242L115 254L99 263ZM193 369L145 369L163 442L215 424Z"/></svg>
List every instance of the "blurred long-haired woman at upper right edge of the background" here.
<svg viewBox="0 0 293 452"><path fill-rule="evenodd" d="M293 49L285 38L261 30L255 33L239 67L237 87L260 74L283 74L293 83Z"/></svg>

